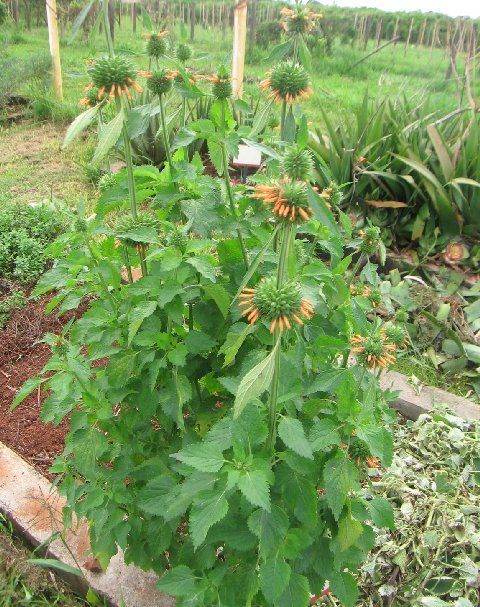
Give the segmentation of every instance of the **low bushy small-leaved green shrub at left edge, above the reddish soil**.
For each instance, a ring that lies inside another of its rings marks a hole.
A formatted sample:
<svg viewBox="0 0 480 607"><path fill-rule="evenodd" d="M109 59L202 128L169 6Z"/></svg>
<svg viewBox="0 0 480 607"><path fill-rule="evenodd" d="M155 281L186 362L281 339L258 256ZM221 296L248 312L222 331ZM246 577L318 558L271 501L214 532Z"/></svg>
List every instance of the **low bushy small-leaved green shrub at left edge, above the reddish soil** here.
<svg viewBox="0 0 480 607"><path fill-rule="evenodd" d="M30 284L43 272L45 247L61 223L46 205L7 205L0 210L0 277Z"/></svg>

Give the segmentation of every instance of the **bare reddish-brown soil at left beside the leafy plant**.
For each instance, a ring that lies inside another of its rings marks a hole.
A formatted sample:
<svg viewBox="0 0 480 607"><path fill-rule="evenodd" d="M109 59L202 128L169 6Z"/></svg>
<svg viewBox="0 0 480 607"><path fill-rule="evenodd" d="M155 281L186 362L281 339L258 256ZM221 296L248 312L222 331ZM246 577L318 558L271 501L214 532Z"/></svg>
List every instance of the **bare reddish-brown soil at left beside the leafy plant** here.
<svg viewBox="0 0 480 607"><path fill-rule="evenodd" d="M44 309L48 299L43 297L18 310L0 331L0 441L52 478L48 469L63 450L68 422L54 426L40 421L39 391L11 413L8 411L23 382L35 376L50 357L50 347L36 342L46 333L58 334L72 316L47 316Z"/></svg>

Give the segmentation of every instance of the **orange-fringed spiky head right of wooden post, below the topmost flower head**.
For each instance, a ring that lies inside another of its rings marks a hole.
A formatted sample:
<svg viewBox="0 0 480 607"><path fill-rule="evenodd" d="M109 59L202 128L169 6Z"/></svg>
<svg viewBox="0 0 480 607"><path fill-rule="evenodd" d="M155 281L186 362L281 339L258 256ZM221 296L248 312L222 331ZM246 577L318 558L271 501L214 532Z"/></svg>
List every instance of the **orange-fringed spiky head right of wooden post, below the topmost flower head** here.
<svg viewBox="0 0 480 607"><path fill-rule="evenodd" d="M267 78L260 82L263 91L270 89L268 97L292 105L313 93L307 70L298 63L286 61L276 65Z"/></svg>

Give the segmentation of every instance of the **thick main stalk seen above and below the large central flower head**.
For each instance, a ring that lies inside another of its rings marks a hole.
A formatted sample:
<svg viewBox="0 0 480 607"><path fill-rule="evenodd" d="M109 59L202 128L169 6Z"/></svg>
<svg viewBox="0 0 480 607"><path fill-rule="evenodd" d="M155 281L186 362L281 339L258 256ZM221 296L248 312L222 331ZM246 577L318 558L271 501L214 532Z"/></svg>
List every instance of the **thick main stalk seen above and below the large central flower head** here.
<svg viewBox="0 0 480 607"><path fill-rule="evenodd" d="M289 224L284 224L282 229L282 243L277 268L277 288L281 288L285 282L288 252L290 250L293 229ZM281 334L278 326L273 333L273 344L275 350L275 362L272 384L270 387L270 403L268 407L268 439L267 449L273 453L277 440L277 408L278 408L278 386L280 383L280 358L282 355Z"/></svg>

